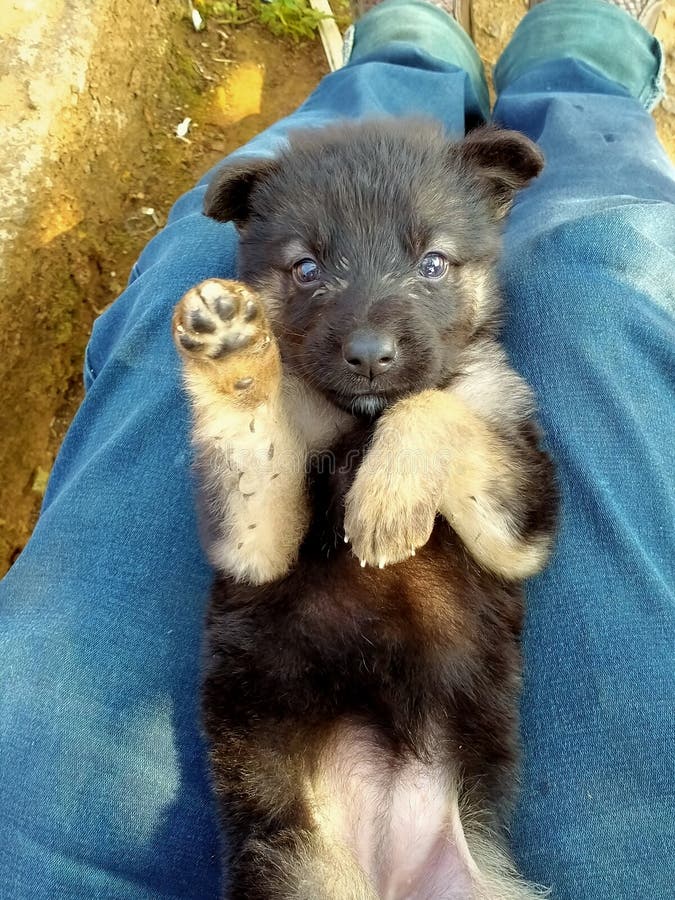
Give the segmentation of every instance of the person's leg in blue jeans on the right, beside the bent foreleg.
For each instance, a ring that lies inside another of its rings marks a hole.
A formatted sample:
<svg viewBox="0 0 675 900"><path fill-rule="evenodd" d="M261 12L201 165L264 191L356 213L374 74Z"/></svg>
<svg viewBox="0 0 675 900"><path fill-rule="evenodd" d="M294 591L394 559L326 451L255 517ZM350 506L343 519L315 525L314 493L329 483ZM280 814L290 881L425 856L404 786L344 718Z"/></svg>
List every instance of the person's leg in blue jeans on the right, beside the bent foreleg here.
<svg viewBox="0 0 675 900"><path fill-rule="evenodd" d="M514 828L555 900L675 885L675 172L645 110L659 66L619 10L550 0L495 73L496 119L547 160L503 274L563 495L529 589Z"/></svg>

